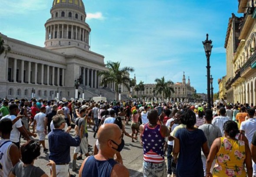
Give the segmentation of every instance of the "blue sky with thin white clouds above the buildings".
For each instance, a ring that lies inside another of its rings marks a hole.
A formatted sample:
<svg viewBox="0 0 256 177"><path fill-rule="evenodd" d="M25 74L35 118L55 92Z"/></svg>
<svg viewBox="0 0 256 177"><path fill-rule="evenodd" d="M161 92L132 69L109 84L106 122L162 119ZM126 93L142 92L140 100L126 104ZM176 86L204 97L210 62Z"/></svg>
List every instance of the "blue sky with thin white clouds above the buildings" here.
<svg viewBox="0 0 256 177"><path fill-rule="evenodd" d="M155 78L181 82L183 71L197 93L207 92L202 41L213 41L210 58L214 93L226 75L223 47L228 19L237 0L83 0L90 25L91 50L107 61L135 69L137 82ZM1 0L0 32L44 46L44 23L53 0Z"/></svg>

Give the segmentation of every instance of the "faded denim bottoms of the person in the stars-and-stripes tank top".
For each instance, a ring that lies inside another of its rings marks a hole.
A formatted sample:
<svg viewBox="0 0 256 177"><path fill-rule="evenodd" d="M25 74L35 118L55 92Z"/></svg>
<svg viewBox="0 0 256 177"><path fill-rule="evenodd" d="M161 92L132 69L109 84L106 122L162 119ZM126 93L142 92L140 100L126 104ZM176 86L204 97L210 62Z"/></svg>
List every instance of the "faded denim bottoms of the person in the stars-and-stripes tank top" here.
<svg viewBox="0 0 256 177"><path fill-rule="evenodd" d="M167 168L165 162L154 164L143 161L143 177L166 177Z"/></svg>

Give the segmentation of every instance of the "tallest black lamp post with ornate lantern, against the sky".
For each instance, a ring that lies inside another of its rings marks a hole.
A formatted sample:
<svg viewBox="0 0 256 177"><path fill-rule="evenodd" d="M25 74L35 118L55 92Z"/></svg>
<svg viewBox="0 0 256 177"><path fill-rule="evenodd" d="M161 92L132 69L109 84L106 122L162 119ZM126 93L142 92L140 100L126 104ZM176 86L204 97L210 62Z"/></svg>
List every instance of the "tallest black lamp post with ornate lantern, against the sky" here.
<svg viewBox="0 0 256 177"><path fill-rule="evenodd" d="M202 42L205 55L207 58L207 104L208 108L211 108L211 96L210 96L210 55L213 48L212 40L208 40L208 34L206 34L206 40Z"/></svg>

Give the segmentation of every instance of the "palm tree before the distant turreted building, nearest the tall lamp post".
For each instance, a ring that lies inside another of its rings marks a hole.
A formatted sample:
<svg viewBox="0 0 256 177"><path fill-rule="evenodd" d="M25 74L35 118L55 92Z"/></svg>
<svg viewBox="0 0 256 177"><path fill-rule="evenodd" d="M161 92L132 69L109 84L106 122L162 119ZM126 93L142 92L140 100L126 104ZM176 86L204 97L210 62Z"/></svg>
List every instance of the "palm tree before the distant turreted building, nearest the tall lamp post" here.
<svg viewBox="0 0 256 177"><path fill-rule="evenodd" d="M164 101L164 97L170 97L171 93L174 93L174 89L173 87L171 87L171 85L174 84L173 81L171 80L165 81L164 77L160 79L156 78L154 81L157 83L155 87L155 93L163 94L163 101Z"/></svg>

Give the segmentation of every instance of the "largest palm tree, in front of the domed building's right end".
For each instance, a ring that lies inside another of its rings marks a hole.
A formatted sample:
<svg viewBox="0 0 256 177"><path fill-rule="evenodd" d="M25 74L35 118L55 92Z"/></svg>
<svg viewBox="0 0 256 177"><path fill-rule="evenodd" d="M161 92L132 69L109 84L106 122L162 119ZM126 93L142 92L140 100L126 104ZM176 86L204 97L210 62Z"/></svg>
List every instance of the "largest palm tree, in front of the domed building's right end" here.
<svg viewBox="0 0 256 177"><path fill-rule="evenodd" d="M134 69L131 67L120 68L120 62L108 61L106 64L107 71L98 72L98 76L102 76L101 85L115 83L115 100L117 100L118 86L123 84L129 89L129 72L133 72Z"/></svg>

